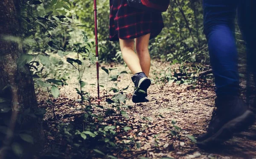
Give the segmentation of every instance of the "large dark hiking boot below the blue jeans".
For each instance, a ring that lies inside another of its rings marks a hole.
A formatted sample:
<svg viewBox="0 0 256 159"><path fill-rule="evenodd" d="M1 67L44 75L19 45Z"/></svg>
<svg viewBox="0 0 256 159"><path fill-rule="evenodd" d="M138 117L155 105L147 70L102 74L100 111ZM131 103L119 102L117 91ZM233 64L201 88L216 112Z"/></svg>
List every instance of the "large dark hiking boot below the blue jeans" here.
<svg viewBox="0 0 256 159"><path fill-rule="evenodd" d="M239 96L224 96L215 99L215 110L207 133L199 136L199 146L221 144L231 139L233 133L241 132L254 122L254 115Z"/></svg>

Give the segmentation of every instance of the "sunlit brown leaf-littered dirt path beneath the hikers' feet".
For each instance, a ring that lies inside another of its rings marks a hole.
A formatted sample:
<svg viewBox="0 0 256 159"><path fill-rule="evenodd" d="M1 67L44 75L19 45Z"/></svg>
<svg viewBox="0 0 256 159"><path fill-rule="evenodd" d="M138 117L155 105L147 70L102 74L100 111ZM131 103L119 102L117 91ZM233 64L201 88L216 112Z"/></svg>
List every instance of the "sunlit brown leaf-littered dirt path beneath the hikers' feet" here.
<svg viewBox="0 0 256 159"><path fill-rule="evenodd" d="M169 63L154 61L151 72L164 69L167 66L170 66ZM128 71L124 65L106 65L105 67L117 68L113 70L113 73ZM100 70L100 83L110 87L113 82L107 82L107 78L107 74ZM126 103L131 106L131 109L126 110L129 119L124 122L131 127L131 130L119 134L116 141L127 143L129 149L113 152L113 155L120 159L137 159L140 156L148 159L164 157L174 159L256 159L256 124L249 130L236 134L233 139L223 145L212 147L212 149L200 149L194 143L194 137L196 139L198 135L206 132L212 116L215 99L212 82L204 86L197 85L191 89L190 85L157 84L154 82L153 73L150 78L153 81L148 90L150 102L135 105L129 100ZM88 84L96 84L94 66L85 70L84 81ZM59 117L58 120L62 122L69 122L73 116L81 114L81 111L77 109L79 103L76 101L79 98L75 90L78 87L77 78L71 77L67 83L68 86L60 88L61 97L55 100L55 113ZM125 88L128 85L130 87L126 90L127 97L131 99L133 92L131 74L120 75L117 87ZM84 90L96 98L96 87L87 85ZM44 93L39 93L38 103L41 103L41 107L46 107L45 97L42 94ZM105 96L104 88L101 88L101 96ZM105 104L104 99L101 104ZM55 121L50 119L52 119L52 109L47 108L44 117L46 131L55 126ZM176 137L170 133L174 132L172 130L176 130ZM49 135L47 139L48 145L56 142L54 136ZM129 144L134 141L140 146Z"/></svg>

